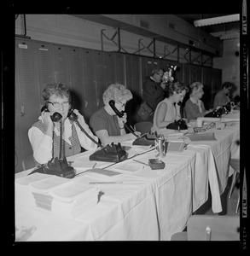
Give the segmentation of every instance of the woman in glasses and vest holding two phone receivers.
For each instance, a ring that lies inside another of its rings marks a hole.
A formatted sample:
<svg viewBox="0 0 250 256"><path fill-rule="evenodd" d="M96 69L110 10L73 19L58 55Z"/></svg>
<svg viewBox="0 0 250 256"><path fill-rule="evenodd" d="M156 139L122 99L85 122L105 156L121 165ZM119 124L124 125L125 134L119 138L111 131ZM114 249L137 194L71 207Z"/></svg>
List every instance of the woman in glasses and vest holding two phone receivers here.
<svg viewBox="0 0 250 256"><path fill-rule="evenodd" d="M50 116L57 112L62 116L63 150L64 156L70 156L81 152L81 147L86 150L95 150L96 143L90 140L78 125L67 118L71 109L71 93L64 84L47 84L42 96L45 102L45 110L28 131L28 137L32 144L33 157L38 164L45 164L53 157L59 157L60 151L60 122L54 122ZM96 142L98 138L93 135L84 117L77 109L73 110L78 116L78 123Z"/></svg>

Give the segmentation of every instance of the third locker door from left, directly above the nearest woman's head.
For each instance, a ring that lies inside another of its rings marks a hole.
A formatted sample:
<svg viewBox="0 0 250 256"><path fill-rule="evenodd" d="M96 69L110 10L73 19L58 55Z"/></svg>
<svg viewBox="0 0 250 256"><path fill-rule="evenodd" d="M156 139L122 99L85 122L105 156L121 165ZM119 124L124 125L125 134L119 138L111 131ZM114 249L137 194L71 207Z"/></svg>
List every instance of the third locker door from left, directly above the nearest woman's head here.
<svg viewBox="0 0 250 256"><path fill-rule="evenodd" d="M66 84L71 87L69 83L67 46L53 44L52 49L54 62L53 80L55 83Z"/></svg>

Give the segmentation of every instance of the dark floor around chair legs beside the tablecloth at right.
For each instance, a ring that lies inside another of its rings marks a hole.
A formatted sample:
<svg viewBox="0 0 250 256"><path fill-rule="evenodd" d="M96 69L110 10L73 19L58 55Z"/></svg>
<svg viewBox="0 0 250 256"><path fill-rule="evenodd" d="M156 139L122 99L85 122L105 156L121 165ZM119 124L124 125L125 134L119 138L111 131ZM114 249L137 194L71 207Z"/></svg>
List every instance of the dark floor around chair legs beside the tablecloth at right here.
<svg viewBox="0 0 250 256"><path fill-rule="evenodd" d="M213 215L213 214L218 214L218 215L236 215L238 216L240 214L240 210L236 213L236 206L237 206L237 201L238 201L238 195L239 195L239 177L236 177L236 185L235 189L232 192L231 197L229 198L229 193L230 193L230 185L232 181L232 176L229 177L228 180L228 185L226 189L224 190L223 195L221 195L221 201L222 201L222 206L223 206L223 211L219 213L213 213L212 208L211 208L211 194L209 193L208 200L206 201L205 204L203 204L197 211L194 212L194 214L207 214L207 215Z"/></svg>

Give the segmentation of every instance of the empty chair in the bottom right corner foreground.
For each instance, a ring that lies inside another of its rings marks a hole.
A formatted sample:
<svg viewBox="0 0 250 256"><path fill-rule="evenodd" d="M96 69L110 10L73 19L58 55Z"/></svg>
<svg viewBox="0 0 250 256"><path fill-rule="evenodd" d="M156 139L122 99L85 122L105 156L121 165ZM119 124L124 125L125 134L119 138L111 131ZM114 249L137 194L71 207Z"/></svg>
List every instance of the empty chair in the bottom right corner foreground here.
<svg viewBox="0 0 250 256"><path fill-rule="evenodd" d="M177 232L172 241L240 241L240 217L192 215L187 231Z"/></svg>

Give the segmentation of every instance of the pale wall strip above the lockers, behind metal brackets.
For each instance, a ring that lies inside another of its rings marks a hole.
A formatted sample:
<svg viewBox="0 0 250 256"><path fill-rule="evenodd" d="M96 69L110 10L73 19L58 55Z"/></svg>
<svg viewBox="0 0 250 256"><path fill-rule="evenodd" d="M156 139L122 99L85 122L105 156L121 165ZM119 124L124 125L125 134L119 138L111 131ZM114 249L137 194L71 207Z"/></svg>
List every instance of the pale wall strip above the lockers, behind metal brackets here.
<svg viewBox="0 0 250 256"><path fill-rule="evenodd" d="M15 20L15 34L24 34L23 15L19 15ZM35 40L67 44L72 46L84 47L89 49L102 49L101 32L107 38L103 38L103 50L117 51L118 46L113 44L108 38L113 38L115 28L104 26L99 23L83 20L73 15L26 15L26 36ZM118 37L114 37L118 42ZM153 44L151 38L120 30L121 47L128 53L138 53L140 44L140 54L153 56ZM155 54L158 57L166 57L168 60L187 63L187 50L179 48L177 55L177 45L165 44L155 41ZM125 51L122 51L125 52ZM199 52L192 52L192 59L199 55ZM211 66L209 62L204 64Z"/></svg>

